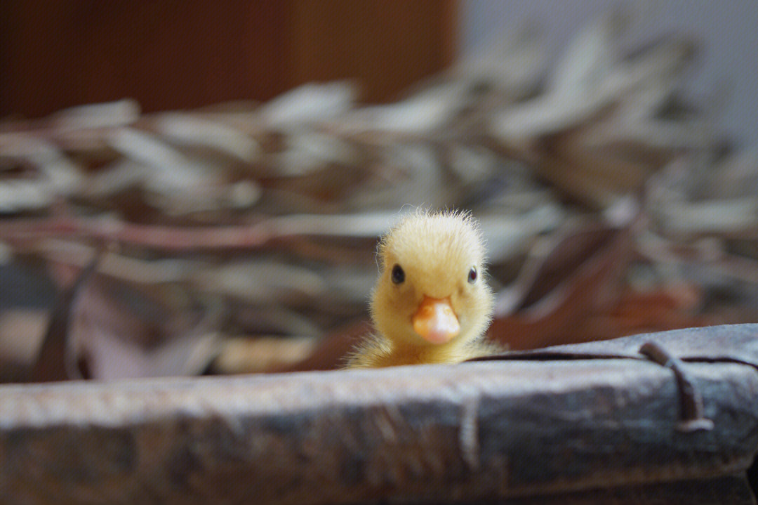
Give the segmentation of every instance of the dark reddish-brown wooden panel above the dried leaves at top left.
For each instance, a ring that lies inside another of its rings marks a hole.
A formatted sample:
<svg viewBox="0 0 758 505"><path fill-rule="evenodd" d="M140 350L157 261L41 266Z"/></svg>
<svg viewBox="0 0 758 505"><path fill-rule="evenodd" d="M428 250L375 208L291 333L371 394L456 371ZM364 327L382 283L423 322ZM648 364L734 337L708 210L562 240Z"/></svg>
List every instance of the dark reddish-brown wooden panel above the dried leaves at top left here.
<svg viewBox="0 0 758 505"><path fill-rule="evenodd" d="M453 60L456 2L0 2L0 117L130 97L145 111L356 78L396 98Z"/></svg>

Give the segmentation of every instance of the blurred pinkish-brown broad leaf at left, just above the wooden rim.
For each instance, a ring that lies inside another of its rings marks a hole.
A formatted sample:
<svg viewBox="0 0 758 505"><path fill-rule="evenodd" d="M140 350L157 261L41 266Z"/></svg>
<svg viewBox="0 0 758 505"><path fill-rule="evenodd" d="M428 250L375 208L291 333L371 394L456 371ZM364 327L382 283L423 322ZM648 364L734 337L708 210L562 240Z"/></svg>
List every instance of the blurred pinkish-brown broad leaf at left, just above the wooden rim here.
<svg viewBox="0 0 758 505"><path fill-rule="evenodd" d="M84 377L194 375L217 352L223 316L176 288L96 276L75 304L67 337Z"/></svg>

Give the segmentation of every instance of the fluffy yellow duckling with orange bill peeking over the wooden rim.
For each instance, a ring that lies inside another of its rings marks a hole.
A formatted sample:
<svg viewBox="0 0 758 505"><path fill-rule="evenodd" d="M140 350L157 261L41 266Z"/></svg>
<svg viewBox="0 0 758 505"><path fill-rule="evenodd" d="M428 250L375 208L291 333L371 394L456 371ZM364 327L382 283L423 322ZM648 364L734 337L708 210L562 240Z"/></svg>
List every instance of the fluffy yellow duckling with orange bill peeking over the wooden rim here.
<svg viewBox="0 0 758 505"><path fill-rule="evenodd" d="M371 293L376 334L346 368L453 363L500 348L481 336L493 294L484 281L484 243L468 212L419 211L382 237Z"/></svg>

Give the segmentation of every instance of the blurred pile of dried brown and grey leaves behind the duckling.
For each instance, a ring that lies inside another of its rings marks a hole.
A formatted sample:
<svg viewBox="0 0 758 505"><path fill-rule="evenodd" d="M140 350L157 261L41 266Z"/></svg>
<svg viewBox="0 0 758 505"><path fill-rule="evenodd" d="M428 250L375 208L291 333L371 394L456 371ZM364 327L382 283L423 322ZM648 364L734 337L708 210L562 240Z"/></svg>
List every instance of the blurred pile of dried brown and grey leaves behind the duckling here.
<svg viewBox="0 0 758 505"><path fill-rule="evenodd" d="M2 258L78 280L0 308L5 379L333 368L416 205L479 218L512 348L758 321L758 152L682 98L695 41L624 47L629 23L551 65L514 33L390 105L337 82L0 123Z"/></svg>

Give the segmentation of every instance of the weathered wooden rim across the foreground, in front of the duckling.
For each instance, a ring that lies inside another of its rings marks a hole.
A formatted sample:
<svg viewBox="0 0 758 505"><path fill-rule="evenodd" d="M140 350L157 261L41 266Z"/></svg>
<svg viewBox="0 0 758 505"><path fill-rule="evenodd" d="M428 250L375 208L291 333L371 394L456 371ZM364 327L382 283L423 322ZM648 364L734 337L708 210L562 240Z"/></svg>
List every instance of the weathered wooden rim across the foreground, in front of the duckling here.
<svg viewBox="0 0 758 505"><path fill-rule="evenodd" d="M684 366L712 430L678 431L672 371L637 359L5 386L0 496L531 503L570 493L575 502L561 503L633 503L725 478L733 485L719 493L750 503L744 479L727 477L758 448L758 372ZM709 496L700 502L716 503Z"/></svg>

